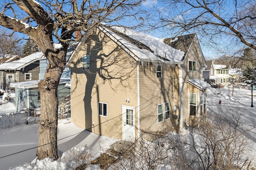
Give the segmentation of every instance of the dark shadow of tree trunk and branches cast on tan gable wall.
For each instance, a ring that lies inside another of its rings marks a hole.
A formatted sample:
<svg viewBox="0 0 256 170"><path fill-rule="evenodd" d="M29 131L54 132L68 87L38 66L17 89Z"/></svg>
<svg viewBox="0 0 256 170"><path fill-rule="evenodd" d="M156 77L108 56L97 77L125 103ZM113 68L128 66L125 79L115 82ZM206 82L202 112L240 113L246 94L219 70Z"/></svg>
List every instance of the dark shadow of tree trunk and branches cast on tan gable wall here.
<svg viewBox="0 0 256 170"><path fill-rule="evenodd" d="M82 43L81 49L76 52L77 60L74 63L76 69L72 69L72 78L75 79L75 84L72 85L72 93L78 90L80 82L85 82L85 89L83 101L85 111L85 127L87 130L92 129L92 114L98 115L96 111L92 111L92 96L96 95L97 103L100 102L100 95L109 95L100 88L102 85L108 83L109 89L114 93L118 90L118 86L126 87L127 83L123 83L132 76L131 67L128 54L124 55L123 49L118 45L109 46L108 43L112 41L106 35L102 36L100 33L94 32L94 34L88 36L88 39ZM83 55L90 55L90 68L82 70L81 58ZM127 69L129 68L129 69ZM80 79L80 74L84 74L86 80ZM74 82L74 81L73 81ZM118 83L117 83L118 82ZM112 96L109 96L111 99ZM95 102L95 101L94 101ZM76 104L75 104L76 105ZM115 114L116 115L116 114ZM122 113L120 112L122 119ZM109 118L108 118L109 119ZM114 124L120 124L118 121L112 121ZM98 130L99 134L102 134L102 120L98 116ZM95 125L96 126L96 125Z"/></svg>

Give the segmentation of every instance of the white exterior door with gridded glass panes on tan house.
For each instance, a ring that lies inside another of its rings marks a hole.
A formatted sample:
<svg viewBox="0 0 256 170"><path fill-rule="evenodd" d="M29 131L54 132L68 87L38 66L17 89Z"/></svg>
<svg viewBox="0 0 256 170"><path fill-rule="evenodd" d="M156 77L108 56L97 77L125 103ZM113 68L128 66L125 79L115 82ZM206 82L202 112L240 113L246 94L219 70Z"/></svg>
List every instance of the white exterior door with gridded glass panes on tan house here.
<svg viewBox="0 0 256 170"><path fill-rule="evenodd" d="M135 108L122 106L123 114L123 140L133 142L135 140Z"/></svg>

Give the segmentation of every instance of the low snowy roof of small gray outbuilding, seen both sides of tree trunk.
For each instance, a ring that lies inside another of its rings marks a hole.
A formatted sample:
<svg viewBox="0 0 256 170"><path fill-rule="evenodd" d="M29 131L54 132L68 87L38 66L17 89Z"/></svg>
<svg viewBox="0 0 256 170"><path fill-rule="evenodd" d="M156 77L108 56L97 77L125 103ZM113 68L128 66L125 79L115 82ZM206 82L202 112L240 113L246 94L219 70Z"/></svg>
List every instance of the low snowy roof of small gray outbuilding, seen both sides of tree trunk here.
<svg viewBox="0 0 256 170"><path fill-rule="evenodd" d="M38 83L40 80L31 80L31 81L22 81L17 83L10 83L10 87L20 88L20 89L31 89L38 87ZM64 84L70 82L68 78L60 78L59 84Z"/></svg>

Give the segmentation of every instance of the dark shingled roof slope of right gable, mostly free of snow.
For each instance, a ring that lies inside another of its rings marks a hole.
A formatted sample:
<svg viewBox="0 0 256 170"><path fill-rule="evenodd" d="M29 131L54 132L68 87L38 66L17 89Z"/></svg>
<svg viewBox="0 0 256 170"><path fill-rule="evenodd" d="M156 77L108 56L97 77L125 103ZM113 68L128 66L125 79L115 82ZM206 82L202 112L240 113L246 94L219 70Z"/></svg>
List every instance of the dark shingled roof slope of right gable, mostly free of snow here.
<svg viewBox="0 0 256 170"><path fill-rule="evenodd" d="M181 51L184 51L184 56L182 58L182 61L184 60L186 54L188 53L188 49L194 39L195 33L194 34L188 34L184 36L177 36L173 38L166 38L164 39L164 43L167 45L170 45L171 47L175 49L180 49ZM178 40L171 42L171 40L175 40L175 38L178 38Z"/></svg>

